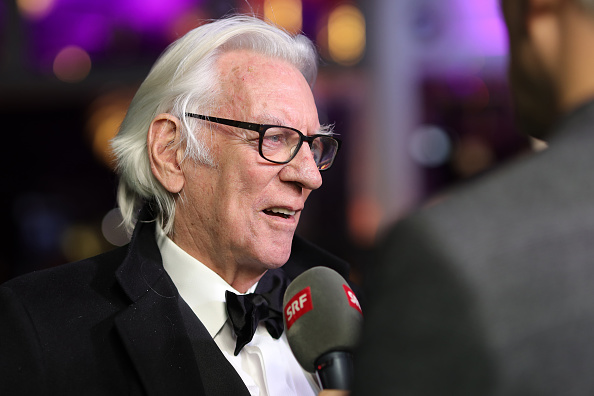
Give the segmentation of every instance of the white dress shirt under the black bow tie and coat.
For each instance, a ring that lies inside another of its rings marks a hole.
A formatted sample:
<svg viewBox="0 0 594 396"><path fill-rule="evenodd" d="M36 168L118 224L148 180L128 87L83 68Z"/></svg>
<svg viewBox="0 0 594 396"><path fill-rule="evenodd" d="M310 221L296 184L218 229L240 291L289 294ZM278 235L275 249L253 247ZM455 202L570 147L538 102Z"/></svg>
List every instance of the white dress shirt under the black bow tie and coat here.
<svg viewBox="0 0 594 396"><path fill-rule="evenodd" d="M225 308L225 292L233 289L218 274L196 260L157 227L157 243L163 266L215 343L235 368L252 396L317 395L314 377L293 356L286 334L278 340L258 325L254 338L234 356L236 337ZM253 293L256 285L248 293Z"/></svg>

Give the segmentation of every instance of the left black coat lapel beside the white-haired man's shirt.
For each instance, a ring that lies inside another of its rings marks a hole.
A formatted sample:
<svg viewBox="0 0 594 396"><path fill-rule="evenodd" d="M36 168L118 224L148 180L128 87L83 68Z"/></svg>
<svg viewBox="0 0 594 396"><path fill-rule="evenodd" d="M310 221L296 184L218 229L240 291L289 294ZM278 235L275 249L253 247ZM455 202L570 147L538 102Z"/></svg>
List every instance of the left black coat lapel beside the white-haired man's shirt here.
<svg viewBox="0 0 594 396"><path fill-rule="evenodd" d="M132 302L115 318L117 330L147 394L204 395L179 293L163 269L154 223L143 220L116 274Z"/></svg>

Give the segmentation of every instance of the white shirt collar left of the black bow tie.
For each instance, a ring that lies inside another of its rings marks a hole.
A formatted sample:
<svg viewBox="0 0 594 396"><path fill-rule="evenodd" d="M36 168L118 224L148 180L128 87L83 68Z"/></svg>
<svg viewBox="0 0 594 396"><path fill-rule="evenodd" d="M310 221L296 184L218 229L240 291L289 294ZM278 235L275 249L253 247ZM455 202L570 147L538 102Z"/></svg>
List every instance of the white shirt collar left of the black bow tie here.
<svg viewBox="0 0 594 396"><path fill-rule="evenodd" d="M190 306L206 330L215 337L227 321L225 292L235 290L216 272L196 260L175 244L157 227L157 244L163 267L177 287L180 296ZM252 286L248 293L255 290Z"/></svg>

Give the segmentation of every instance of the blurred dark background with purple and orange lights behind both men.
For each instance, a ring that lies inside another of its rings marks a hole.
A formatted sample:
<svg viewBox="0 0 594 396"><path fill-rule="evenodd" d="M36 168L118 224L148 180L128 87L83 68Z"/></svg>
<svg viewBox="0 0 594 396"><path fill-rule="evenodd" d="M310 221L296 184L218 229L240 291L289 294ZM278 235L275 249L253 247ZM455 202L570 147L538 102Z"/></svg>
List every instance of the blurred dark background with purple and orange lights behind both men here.
<svg viewBox="0 0 594 396"><path fill-rule="evenodd" d="M355 276L386 225L532 149L513 126L498 0L2 0L0 283L127 242L108 141L164 48L231 13L317 45L343 140L298 233Z"/></svg>

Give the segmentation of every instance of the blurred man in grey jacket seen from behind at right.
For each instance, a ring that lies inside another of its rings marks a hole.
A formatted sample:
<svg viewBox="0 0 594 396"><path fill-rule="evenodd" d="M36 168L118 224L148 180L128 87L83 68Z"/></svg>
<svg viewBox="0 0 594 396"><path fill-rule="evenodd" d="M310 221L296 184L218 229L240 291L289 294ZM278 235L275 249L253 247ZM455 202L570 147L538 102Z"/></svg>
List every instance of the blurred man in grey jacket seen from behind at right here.
<svg viewBox="0 0 594 396"><path fill-rule="evenodd" d="M594 2L503 10L518 120L549 148L390 230L356 394L594 394Z"/></svg>

